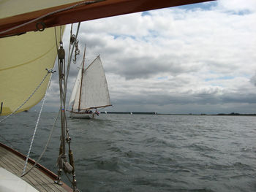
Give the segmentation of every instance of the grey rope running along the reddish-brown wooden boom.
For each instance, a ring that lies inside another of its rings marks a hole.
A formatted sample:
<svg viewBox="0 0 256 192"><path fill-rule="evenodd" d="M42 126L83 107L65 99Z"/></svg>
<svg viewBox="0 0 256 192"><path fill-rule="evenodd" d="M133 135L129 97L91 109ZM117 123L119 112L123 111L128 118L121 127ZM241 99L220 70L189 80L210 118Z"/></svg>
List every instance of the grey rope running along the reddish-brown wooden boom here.
<svg viewBox="0 0 256 192"><path fill-rule="evenodd" d="M94 4L94 3L98 3L98 2L100 2L100 1L105 1L105 0L83 1L83 2L80 2L79 4L74 4L74 5L72 5L72 6L65 7L65 8L63 8L63 9L59 9L59 10L56 10L56 11L53 11L53 12L48 12L47 14L42 15L42 16L40 16L39 18L35 18L34 20L30 20L30 21L28 21L28 22L26 22L26 23L20 24L19 26L15 26L15 27L9 28L9 29L7 29L7 30L0 31L0 34L4 34L4 33L7 33L7 32L9 32L9 31L15 30L16 28L20 28L20 27L26 26L26 25L28 25L29 23L33 23L33 22L35 22L35 21L37 21L37 20L40 20L40 19L45 18L45 17L48 17L48 16L50 16L50 15L54 15L54 14L59 13L59 12L64 12L64 11L67 11L67 10L69 10L69 9L74 9L75 7L78 7L78 6L83 5L83 4Z"/></svg>

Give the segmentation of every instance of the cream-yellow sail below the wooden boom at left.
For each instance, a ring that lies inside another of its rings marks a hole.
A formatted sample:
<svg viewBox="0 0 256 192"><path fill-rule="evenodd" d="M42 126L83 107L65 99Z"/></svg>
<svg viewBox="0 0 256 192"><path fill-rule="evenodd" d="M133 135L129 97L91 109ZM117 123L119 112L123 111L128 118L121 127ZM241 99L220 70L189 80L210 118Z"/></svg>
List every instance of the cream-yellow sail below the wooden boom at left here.
<svg viewBox="0 0 256 192"><path fill-rule="evenodd" d="M59 39L59 28L56 31ZM3 102L1 115L14 112L29 98L47 74L46 68L53 68L56 53L54 28L0 39L0 104ZM49 77L50 75L18 112L29 110L42 99Z"/></svg>

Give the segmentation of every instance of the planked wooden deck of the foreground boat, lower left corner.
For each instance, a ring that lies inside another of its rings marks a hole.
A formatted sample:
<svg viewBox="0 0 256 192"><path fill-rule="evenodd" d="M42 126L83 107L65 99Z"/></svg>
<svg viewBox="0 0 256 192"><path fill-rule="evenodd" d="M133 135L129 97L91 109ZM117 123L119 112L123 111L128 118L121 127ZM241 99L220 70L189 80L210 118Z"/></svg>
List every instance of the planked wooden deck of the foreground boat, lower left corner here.
<svg viewBox="0 0 256 192"><path fill-rule="evenodd" d="M25 156L19 153L16 150L12 150L10 147L3 145L0 143L0 167L7 169L7 171L12 172L13 174L20 177L23 172L23 166L25 163ZM29 170L31 166L33 166L34 161L29 159L29 163L26 170ZM32 185L38 191L72 191L69 186L57 185L54 183L57 175L53 172L50 172L42 165L35 166L34 169L31 170L24 177L21 177L27 183Z"/></svg>

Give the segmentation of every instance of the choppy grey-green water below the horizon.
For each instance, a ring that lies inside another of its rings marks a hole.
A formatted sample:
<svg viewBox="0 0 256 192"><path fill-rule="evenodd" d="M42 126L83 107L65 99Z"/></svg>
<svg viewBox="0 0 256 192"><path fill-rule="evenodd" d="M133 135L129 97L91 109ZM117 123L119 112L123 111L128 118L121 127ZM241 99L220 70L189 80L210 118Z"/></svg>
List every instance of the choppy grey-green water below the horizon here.
<svg viewBox="0 0 256 192"><path fill-rule="evenodd" d="M42 114L32 158L55 117ZM4 121L1 142L26 154L36 120L23 112ZM256 117L100 115L68 125L80 191L256 191ZM59 133L40 162L53 172Z"/></svg>

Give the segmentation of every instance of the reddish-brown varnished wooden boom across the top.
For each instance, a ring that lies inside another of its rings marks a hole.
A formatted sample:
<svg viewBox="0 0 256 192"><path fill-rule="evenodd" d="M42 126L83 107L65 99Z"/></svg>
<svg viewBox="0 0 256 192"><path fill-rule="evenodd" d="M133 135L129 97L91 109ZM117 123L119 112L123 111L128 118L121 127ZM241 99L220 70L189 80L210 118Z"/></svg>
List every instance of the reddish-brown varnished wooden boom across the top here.
<svg viewBox="0 0 256 192"><path fill-rule="evenodd" d="M195 4L205 1L215 0L95 0L95 2L91 4L80 4L83 1L78 1L72 4L64 4L57 7L50 7L48 9L27 12L9 18L1 18L0 37L14 34L23 34L27 31L38 31L39 29L43 28L61 26L69 23L77 23L80 21L124 15L132 12L143 12L151 9L175 7L185 4ZM80 5L72 9L59 12L61 9L65 9L76 4ZM55 11L57 12L23 25L24 23ZM19 27L14 28L17 26ZM10 28L14 29L7 31Z"/></svg>

